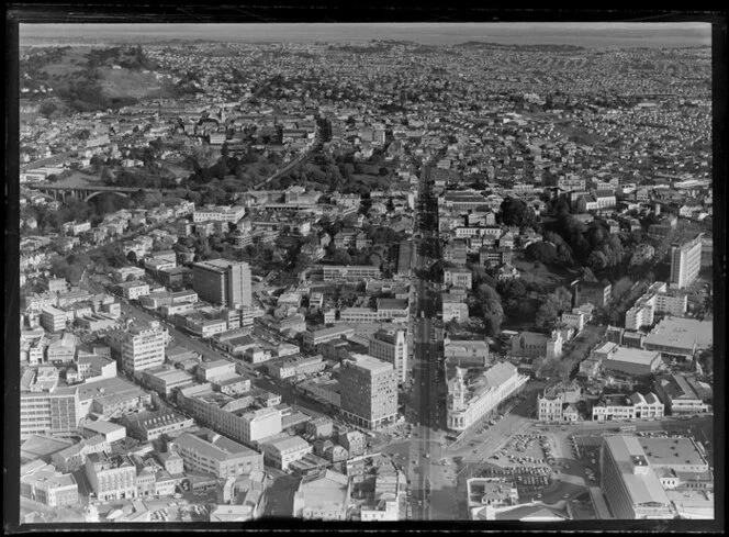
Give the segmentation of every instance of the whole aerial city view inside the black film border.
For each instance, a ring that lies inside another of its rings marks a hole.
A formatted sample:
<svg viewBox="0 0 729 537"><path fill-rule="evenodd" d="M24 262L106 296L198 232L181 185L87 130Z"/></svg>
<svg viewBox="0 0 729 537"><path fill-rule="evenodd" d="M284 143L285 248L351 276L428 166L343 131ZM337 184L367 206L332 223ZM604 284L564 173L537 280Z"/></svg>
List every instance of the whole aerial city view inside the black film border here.
<svg viewBox="0 0 729 537"><path fill-rule="evenodd" d="M21 524L715 519L710 25L45 26Z"/></svg>

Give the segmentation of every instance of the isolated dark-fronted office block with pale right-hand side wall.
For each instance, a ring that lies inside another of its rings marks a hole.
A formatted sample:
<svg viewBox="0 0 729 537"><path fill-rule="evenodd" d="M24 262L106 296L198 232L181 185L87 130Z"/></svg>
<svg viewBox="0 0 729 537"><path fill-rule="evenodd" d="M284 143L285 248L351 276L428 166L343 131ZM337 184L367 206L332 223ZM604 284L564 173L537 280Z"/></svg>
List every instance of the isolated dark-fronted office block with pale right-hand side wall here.
<svg viewBox="0 0 729 537"><path fill-rule="evenodd" d="M227 259L192 265L192 286L200 299L231 307L250 306L250 266Z"/></svg>

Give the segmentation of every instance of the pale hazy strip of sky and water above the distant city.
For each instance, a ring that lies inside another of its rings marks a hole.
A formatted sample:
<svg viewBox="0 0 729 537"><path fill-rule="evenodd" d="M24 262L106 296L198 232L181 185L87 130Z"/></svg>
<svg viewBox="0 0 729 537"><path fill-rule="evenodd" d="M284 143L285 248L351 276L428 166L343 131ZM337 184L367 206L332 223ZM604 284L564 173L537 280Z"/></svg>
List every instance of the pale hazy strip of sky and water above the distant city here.
<svg viewBox="0 0 729 537"><path fill-rule="evenodd" d="M43 40L154 42L214 40L250 43L402 40L429 45L469 41L585 47L685 47L711 44L708 23L261 23L21 24L21 44Z"/></svg>

